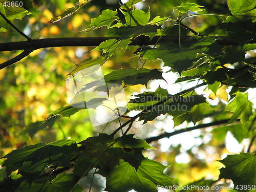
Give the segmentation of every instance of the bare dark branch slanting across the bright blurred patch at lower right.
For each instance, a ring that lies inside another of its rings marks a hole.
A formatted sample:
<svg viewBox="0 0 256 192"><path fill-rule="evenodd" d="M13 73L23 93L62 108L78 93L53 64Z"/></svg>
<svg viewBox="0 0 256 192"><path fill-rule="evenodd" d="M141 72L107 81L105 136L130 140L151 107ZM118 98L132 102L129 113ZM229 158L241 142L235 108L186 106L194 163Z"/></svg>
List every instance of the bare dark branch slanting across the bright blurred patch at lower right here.
<svg viewBox="0 0 256 192"><path fill-rule="evenodd" d="M174 135L181 134L181 133L185 133L185 132L189 132L189 131L193 131L193 130L198 130L198 129L206 128L206 127L209 127L209 126L225 124L229 120L230 119L225 119L225 120L215 121L215 122L211 122L211 123L199 124L197 126L187 127L185 129L178 130L178 131L175 131L175 132L172 132L172 133L166 133L165 132L164 134L161 134L161 135L158 135L158 136L155 136L155 137L150 137L150 138L147 138L145 140L146 140L147 143L151 143L153 141L157 141L157 140L165 138L165 137L169 138L169 137L172 137ZM240 121L240 119L237 119L236 121Z"/></svg>

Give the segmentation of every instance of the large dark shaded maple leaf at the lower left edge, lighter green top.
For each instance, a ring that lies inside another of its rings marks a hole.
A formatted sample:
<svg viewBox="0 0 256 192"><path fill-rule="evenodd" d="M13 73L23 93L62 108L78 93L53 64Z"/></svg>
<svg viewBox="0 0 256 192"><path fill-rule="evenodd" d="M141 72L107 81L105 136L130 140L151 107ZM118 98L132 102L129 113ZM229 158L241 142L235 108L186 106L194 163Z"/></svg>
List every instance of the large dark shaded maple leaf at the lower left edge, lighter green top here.
<svg viewBox="0 0 256 192"><path fill-rule="evenodd" d="M42 171L40 168L45 163L51 162L56 165L69 166L70 155L77 150L75 142L74 140L65 138L49 144L38 143L36 145L18 148L3 157L7 158L3 166L6 166L8 175L14 170L19 169L19 172L28 173L29 178L31 176L29 174L40 174Z"/></svg>

